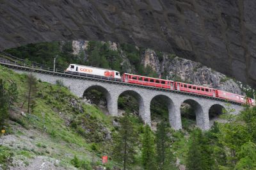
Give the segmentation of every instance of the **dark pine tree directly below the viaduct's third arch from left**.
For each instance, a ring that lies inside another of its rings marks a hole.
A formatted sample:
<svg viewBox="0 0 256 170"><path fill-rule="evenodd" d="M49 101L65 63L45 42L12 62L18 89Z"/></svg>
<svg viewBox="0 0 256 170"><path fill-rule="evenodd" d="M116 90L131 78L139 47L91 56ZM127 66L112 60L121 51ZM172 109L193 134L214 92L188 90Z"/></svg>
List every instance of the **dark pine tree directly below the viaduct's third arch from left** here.
<svg viewBox="0 0 256 170"><path fill-rule="evenodd" d="M156 131L156 162L157 169L175 169L175 160L170 150L171 144L167 135L167 125L161 122L157 125Z"/></svg>

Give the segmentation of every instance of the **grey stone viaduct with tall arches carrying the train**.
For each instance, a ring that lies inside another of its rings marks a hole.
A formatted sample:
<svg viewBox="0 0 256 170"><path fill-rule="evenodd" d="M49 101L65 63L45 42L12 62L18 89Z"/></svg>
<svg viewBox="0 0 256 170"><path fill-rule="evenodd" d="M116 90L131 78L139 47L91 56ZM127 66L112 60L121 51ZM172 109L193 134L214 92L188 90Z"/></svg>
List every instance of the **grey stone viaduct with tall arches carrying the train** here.
<svg viewBox="0 0 256 170"><path fill-rule="evenodd" d="M31 72L30 68L9 67L18 73ZM45 70L33 69L33 74L38 79L51 84L56 84L57 80L63 81L64 85L77 97L83 97L84 92L90 89L102 91L107 100L109 114L113 116L118 116L118 97L122 94L132 95L138 100L140 117L148 125L151 125L150 102L154 98L168 104L169 122L176 130L182 128L180 107L183 102L190 104L195 109L196 125L202 130L210 128L210 109L214 109L217 112L221 112L222 108L227 109L227 102L224 100L216 100L216 98L202 97L191 93L180 93L179 91L170 91L168 89L151 88ZM236 103L231 103L229 107L236 110L234 114L238 114L243 109L241 105Z"/></svg>

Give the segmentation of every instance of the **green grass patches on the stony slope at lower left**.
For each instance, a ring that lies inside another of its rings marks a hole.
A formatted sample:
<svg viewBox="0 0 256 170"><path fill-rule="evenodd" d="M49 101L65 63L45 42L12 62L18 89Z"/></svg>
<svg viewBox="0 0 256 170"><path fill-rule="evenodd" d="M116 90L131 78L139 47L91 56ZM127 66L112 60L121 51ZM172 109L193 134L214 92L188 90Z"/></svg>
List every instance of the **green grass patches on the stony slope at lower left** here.
<svg viewBox="0 0 256 170"><path fill-rule="evenodd" d="M19 100L15 104L14 108L17 110L15 114L19 114L19 106L24 102L24 93L26 92L26 75L20 75L8 68L0 66L0 79L8 83L15 81L18 86ZM70 100L76 100L77 105L83 108L83 112L79 112L79 109L70 104ZM92 160L92 143L88 141L83 135L77 133L76 128L70 126L70 123L76 118L84 118L85 123L90 123L90 128L94 129L95 134L100 134L102 127L108 129L113 128L111 125L112 119L110 116L103 114L97 107L93 105L84 105L79 101L77 97L72 95L67 88L57 85L52 85L47 82L38 82L38 92L36 93L35 103L32 107L31 114L26 113L26 116L17 116L17 118L11 118L14 126L22 126L24 130L19 129L13 132L18 137L27 136L33 142L35 148L31 150L24 148L7 148L1 146L1 155L8 155L8 153L15 153L15 158L24 159L24 164L29 162L28 159L35 157L36 155L47 155L48 157L56 158L60 160L60 164L68 167L71 166L70 160L72 155L77 155L83 164ZM24 105L26 110L26 104ZM87 116L87 117L86 117ZM87 124L84 124L87 125ZM83 125L81 125L83 127ZM36 134L26 134L34 130ZM9 131L9 130L8 130ZM32 136L32 137L31 137ZM102 137L99 135L98 137ZM98 148L102 148L104 139L100 139L102 143L97 144ZM106 141L108 143L108 141ZM108 146L108 144L106 145ZM109 148L106 148L109 150ZM99 155L95 155L95 160L100 160L101 151L97 150ZM63 157L63 155L70 155ZM6 162L4 157L0 155L0 163ZM110 161L111 162L111 161ZM81 164L82 164L81 163ZM4 164L4 163L3 163ZM111 164L115 164L114 162Z"/></svg>

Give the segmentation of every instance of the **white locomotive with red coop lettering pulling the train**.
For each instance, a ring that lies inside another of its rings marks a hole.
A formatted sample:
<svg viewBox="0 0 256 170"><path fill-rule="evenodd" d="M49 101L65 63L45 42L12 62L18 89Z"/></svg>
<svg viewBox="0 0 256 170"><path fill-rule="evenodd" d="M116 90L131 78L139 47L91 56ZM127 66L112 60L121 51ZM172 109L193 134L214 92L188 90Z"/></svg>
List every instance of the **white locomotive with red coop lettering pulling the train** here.
<svg viewBox="0 0 256 170"><path fill-rule="evenodd" d="M79 74L79 75L93 75L96 77L99 76L99 77L109 77L113 79L121 79L120 73L116 72L115 70L108 70L108 69L97 68L93 66L71 64L68 66L66 72L72 73L72 74Z"/></svg>

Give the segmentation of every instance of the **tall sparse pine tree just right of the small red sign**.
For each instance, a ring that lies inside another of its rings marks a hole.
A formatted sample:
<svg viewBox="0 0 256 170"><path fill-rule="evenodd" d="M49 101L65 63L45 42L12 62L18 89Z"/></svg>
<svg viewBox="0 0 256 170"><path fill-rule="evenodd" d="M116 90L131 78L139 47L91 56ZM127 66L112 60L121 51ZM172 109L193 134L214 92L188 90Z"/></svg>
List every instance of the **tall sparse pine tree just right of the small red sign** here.
<svg viewBox="0 0 256 170"><path fill-rule="evenodd" d="M113 157L115 160L123 162L124 170L132 164L135 155L135 146L138 139L134 133L132 123L129 116L125 113L120 120L120 132L115 136L115 148L113 149Z"/></svg>

